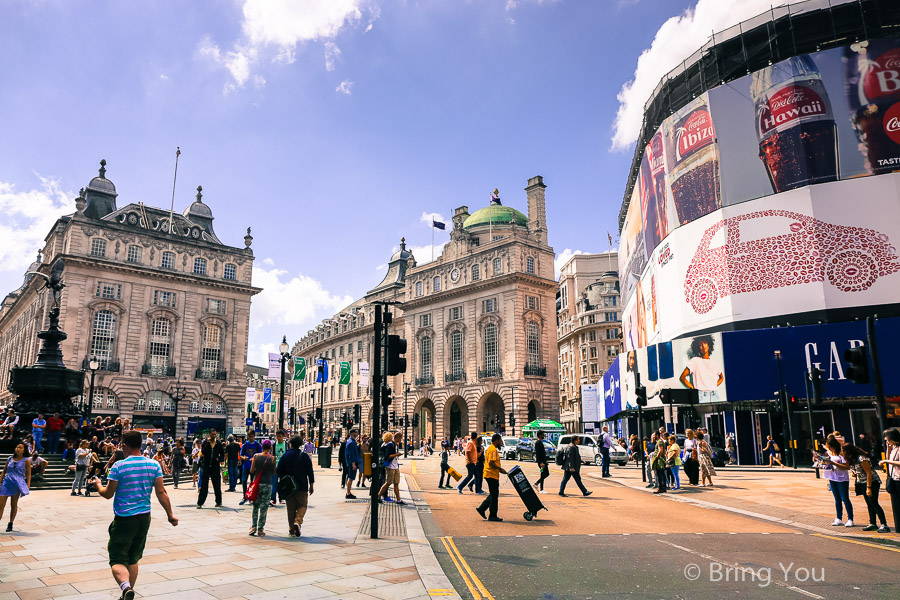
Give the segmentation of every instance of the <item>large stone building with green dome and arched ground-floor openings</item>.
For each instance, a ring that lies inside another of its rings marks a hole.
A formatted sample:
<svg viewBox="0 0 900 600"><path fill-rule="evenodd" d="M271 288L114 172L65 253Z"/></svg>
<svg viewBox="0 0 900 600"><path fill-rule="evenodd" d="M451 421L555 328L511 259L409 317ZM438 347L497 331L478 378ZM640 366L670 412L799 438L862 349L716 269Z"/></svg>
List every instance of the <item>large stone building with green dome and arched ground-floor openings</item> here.
<svg viewBox="0 0 900 600"><path fill-rule="evenodd" d="M558 415L554 341L553 249L547 242L545 185L525 188L528 215L499 203L470 214L454 211L450 242L426 264L401 242L384 280L366 296L310 331L295 346L308 360L352 358L351 386L326 384L326 421L363 405L371 423L368 390L358 363L372 355L375 300L393 300L391 333L405 337L408 369L392 378L391 411L419 415L413 439L467 435L472 430L521 434L535 418ZM355 351L355 352L352 352ZM310 382L315 374L310 371ZM304 414L318 406L319 385L295 389ZM340 388L348 388L342 392ZM332 413L329 413L332 410ZM515 426L509 422L515 416ZM339 418L337 419L339 421Z"/></svg>

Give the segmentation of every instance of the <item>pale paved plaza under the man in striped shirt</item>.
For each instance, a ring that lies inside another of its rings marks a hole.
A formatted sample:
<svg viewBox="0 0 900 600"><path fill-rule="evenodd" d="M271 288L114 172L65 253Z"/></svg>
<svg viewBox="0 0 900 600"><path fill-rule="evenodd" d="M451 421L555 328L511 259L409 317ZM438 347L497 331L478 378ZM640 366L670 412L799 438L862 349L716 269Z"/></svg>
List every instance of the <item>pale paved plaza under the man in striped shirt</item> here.
<svg viewBox="0 0 900 600"><path fill-rule="evenodd" d="M336 469L316 471L303 537L288 537L282 506L269 509L265 538L250 537L250 505L224 493L224 506L196 508L196 490L168 488L177 527L153 499L153 523L135 591L165 600L425 600L459 598L422 534L416 510L391 537L360 534L365 502L345 502ZM403 493L405 494L405 484ZM367 490L359 490L365 493ZM367 498L357 493L360 499ZM0 600L114 600L107 563L112 501L36 491L20 503L16 530L0 534ZM390 511L385 511L390 513ZM396 535L403 533L406 535Z"/></svg>

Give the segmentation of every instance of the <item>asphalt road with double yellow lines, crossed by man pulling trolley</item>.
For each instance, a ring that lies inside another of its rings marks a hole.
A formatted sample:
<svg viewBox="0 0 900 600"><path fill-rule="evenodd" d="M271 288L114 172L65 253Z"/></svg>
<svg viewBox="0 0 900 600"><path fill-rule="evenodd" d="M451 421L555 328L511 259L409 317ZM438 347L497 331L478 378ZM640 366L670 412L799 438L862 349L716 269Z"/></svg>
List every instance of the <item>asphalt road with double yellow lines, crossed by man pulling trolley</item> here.
<svg viewBox="0 0 900 600"><path fill-rule="evenodd" d="M535 465L504 461L512 464L536 480ZM590 478L592 496L572 487L562 498L555 465L552 493L539 496L548 511L525 521L501 476L505 520L488 523L474 510L481 496L437 489L435 457L401 469L432 548L464 598L900 598L896 546L830 539Z"/></svg>

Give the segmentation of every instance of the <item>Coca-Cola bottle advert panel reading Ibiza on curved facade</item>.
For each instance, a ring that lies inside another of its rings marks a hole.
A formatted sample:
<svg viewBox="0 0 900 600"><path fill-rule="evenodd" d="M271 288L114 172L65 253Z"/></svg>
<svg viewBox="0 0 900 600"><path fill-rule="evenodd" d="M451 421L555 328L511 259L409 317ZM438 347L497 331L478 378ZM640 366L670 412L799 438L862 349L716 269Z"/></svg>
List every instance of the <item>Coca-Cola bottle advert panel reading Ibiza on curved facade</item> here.
<svg viewBox="0 0 900 600"><path fill-rule="evenodd" d="M716 130L703 94L665 122L669 186L681 225L722 208Z"/></svg>

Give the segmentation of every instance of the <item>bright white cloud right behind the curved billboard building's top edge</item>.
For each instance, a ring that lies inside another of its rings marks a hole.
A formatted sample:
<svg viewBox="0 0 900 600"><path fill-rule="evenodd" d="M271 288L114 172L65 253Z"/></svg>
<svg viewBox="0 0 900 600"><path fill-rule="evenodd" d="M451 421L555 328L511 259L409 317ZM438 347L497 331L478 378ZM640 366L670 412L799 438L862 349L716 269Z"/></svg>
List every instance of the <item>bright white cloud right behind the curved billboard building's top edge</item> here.
<svg viewBox="0 0 900 600"><path fill-rule="evenodd" d="M775 2L775 4L780 4ZM633 144L640 134L644 104L660 79L700 49L714 31L722 31L770 9L772 0L697 0L693 8L667 20L641 53L634 78L618 94L612 149Z"/></svg>

